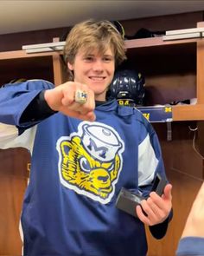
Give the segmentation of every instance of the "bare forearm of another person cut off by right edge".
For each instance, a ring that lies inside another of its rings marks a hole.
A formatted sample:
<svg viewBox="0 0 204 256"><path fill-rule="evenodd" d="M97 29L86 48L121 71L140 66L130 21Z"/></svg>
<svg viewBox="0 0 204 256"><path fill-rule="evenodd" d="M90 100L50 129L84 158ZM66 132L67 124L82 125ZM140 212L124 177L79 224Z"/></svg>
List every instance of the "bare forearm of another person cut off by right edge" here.
<svg viewBox="0 0 204 256"><path fill-rule="evenodd" d="M204 183L202 184L191 207L182 237L199 236L204 237Z"/></svg>

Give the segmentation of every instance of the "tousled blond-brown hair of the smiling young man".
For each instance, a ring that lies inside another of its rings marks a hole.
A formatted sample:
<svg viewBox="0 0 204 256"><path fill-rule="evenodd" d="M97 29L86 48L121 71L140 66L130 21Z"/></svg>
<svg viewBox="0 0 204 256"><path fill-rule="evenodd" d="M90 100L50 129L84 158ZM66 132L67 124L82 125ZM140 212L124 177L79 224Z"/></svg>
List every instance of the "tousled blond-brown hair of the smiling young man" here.
<svg viewBox="0 0 204 256"><path fill-rule="evenodd" d="M111 47L116 66L126 59L124 38L116 27L109 21L87 20L78 23L70 30L64 47L64 61L73 64L74 58L80 49L91 53L98 49L99 53ZM70 70L68 70L70 73ZM72 72L69 74L72 75Z"/></svg>

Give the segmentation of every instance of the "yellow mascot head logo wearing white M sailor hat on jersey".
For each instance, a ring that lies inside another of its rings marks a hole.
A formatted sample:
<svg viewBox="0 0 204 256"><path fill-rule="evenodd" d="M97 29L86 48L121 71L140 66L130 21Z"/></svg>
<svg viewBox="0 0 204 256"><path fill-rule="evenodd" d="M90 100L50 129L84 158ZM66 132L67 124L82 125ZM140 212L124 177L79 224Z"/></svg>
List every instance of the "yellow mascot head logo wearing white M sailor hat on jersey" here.
<svg viewBox="0 0 204 256"><path fill-rule="evenodd" d="M101 203L108 203L122 169L124 141L112 128L83 121L78 133L57 141L63 186Z"/></svg>

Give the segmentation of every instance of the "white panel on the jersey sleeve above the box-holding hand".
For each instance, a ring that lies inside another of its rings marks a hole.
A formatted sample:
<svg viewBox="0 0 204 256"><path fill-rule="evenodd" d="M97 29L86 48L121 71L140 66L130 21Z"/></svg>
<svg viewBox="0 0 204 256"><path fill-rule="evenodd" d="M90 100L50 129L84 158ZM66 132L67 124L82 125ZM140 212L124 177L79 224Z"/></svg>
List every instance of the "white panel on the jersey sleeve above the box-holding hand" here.
<svg viewBox="0 0 204 256"><path fill-rule="evenodd" d="M158 159L147 135L138 148L138 186L150 184L154 179Z"/></svg>

